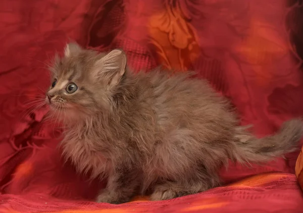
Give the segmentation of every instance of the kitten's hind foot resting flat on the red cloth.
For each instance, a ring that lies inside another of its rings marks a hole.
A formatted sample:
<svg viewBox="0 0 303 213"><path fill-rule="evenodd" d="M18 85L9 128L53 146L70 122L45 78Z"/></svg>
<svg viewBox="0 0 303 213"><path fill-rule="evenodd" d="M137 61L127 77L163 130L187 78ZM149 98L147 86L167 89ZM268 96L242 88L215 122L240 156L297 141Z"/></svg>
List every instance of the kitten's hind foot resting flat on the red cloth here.
<svg viewBox="0 0 303 213"><path fill-rule="evenodd" d="M205 178L199 180L190 180L186 182L167 181L154 187L154 192L151 194L150 199L168 200L175 197L203 192L219 185L218 176L214 175L211 177L209 174L205 174Z"/></svg>

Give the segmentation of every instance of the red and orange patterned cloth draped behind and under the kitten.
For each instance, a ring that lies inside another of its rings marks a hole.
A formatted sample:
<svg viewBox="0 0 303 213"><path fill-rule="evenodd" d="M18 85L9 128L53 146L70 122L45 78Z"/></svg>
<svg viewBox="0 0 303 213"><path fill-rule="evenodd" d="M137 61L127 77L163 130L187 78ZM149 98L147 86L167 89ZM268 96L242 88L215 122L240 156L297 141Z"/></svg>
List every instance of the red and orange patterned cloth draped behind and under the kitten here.
<svg viewBox="0 0 303 213"><path fill-rule="evenodd" d="M46 64L72 39L121 47L136 71L195 70L231 98L244 124L273 133L303 115L299 10L294 0L2 0L0 212L302 212L298 153L263 167L230 165L222 178L233 184L204 193L94 203L102 184L63 164L60 129L42 119L46 109L33 108L49 85Z"/></svg>

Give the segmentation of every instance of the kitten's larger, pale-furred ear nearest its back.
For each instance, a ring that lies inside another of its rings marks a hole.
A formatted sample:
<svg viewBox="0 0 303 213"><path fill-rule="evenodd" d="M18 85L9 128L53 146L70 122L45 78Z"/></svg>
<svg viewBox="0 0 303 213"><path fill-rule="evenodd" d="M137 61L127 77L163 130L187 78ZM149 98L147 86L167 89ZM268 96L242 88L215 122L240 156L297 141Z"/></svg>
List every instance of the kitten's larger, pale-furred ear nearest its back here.
<svg viewBox="0 0 303 213"><path fill-rule="evenodd" d="M126 62L125 52L122 49L114 49L95 63L95 76L115 85L125 73Z"/></svg>

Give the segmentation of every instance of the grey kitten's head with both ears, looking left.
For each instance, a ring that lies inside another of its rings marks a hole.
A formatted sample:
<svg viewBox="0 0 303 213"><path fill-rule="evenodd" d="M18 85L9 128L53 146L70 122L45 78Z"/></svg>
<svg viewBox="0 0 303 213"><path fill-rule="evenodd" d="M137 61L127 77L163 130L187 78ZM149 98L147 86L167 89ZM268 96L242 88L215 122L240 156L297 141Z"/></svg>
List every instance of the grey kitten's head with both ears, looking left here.
<svg viewBox="0 0 303 213"><path fill-rule="evenodd" d="M126 69L120 49L104 54L82 49L76 43L65 47L64 57L55 57L50 68L52 83L45 100L61 119L94 116L112 110L112 96Z"/></svg>

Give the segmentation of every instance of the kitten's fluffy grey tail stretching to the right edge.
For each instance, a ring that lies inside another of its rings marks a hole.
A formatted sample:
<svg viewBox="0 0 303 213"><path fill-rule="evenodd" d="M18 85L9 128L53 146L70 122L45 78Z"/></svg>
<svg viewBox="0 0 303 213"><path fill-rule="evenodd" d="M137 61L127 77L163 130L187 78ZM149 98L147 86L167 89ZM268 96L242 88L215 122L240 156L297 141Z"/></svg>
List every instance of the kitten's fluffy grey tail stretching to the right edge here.
<svg viewBox="0 0 303 213"><path fill-rule="evenodd" d="M281 157L286 153L295 151L303 136L303 123L294 119L283 123L279 132L264 138L255 138L247 133L244 127L238 127L236 134L236 147L232 159L237 162L262 163Z"/></svg>

